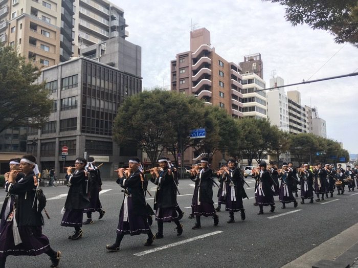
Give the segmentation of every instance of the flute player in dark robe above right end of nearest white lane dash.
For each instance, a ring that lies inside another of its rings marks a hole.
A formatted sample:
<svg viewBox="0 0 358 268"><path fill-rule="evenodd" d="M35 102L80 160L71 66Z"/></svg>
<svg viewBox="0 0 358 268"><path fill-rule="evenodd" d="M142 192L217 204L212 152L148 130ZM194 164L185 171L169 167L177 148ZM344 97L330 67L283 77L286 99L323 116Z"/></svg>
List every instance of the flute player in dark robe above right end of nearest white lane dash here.
<svg viewBox="0 0 358 268"><path fill-rule="evenodd" d="M216 215L213 202L213 178L212 170L209 168L209 159L204 157L200 161L202 169L199 171L199 167L195 166L191 169L191 179L197 182L197 187L194 189L193 195L193 207L194 215L196 218L193 230L202 228L200 223L200 216L213 216L214 226L219 224L219 216Z"/></svg>

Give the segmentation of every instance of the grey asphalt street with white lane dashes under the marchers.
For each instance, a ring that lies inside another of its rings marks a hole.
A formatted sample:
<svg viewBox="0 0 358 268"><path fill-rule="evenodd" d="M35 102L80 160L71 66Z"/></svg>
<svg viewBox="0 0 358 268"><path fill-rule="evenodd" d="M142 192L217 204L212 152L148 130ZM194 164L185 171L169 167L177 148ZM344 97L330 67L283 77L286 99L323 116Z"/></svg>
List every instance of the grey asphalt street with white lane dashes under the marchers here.
<svg viewBox="0 0 358 268"><path fill-rule="evenodd" d="M111 253L106 251L105 245L116 239L123 200L121 188L115 182L107 181L102 186L100 200L106 211L103 219L98 220L98 213L94 213L94 224L83 226L83 237L75 241L68 239L74 229L60 226L60 211L68 187L44 187L51 219L45 218L43 233L49 237L52 248L62 252L60 267L281 267L358 222L358 191L346 191L343 196L334 194L325 202L299 204L297 208L290 203L286 209L281 209L276 196L275 212L270 213L270 207L264 207L264 214L257 215L259 208L253 206L254 180L247 178L246 181L251 187L245 186L250 199L243 202L244 221L235 213L236 222L227 224L229 213L222 206L218 226L213 226L212 217L208 217L202 218L202 229L192 230L195 220L188 219L188 215L194 183L182 180L177 201L185 211L183 235L176 236L173 222L165 223L164 238L155 240L150 247L143 246L146 235L128 235L121 243L121 250ZM150 183L148 188L154 193L155 185ZM217 187L213 192L216 202ZM4 197L5 191L0 193L0 203ZM147 197L152 205L153 197ZM86 219L85 215L83 218ZM157 230L154 221L152 231ZM50 264L45 254L7 259L7 267L37 268Z"/></svg>

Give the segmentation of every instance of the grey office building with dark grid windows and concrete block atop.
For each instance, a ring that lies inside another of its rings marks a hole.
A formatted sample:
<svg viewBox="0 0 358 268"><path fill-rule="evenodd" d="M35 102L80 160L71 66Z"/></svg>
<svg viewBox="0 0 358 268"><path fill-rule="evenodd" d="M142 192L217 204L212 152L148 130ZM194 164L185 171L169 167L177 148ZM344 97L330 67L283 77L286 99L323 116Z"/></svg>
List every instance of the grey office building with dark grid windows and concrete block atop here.
<svg viewBox="0 0 358 268"><path fill-rule="evenodd" d="M107 41L105 51L101 51L103 43L85 49L100 53L94 59L80 56L42 70L38 82L46 81L52 93L53 113L46 125L28 133L28 151L37 156L42 170L54 167L60 174L63 165L72 165L86 152L87 157L104 164L102 177L108 178L115 176L113 170L127 163L130 155L137 154L135 147L119 148L112 140L118 108L126 96L142 91L141 48L123 42L133 53L122 54L118 39L113 38ZM120 61L132 64L123 71ZM68 147L65 161L61 157L63 146Z"/></svg>

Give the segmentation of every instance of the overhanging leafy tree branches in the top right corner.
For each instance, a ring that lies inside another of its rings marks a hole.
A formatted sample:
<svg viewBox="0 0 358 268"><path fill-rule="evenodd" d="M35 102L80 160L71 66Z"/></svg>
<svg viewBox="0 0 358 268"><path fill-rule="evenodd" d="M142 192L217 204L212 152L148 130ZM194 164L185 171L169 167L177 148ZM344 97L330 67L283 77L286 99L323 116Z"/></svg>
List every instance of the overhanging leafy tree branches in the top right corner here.
<svg viewBox="0 0 358 268"><path fill-rule="evenodd" d="M358 2L356 0L262 0L286 6L286 20L293 26L307 24L329 31L337 43L358 47Z"/></svg>

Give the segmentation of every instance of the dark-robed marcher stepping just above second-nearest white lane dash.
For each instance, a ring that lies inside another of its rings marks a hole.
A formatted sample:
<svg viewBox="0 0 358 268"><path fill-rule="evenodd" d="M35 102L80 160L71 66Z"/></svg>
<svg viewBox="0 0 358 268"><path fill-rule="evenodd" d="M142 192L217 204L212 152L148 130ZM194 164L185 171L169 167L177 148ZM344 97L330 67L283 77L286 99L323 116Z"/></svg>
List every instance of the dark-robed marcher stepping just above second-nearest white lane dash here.
<svg viewBox="0 0 358 268"><path fill-rule="evenodd" d="M292 194L291 186L293 185L292 181L295 180L293 178L292 170L288 169L286 163L282 163L281 173L279 174L279 179L282 180L280 187L280 197L279 201L282 203L282 209L286 208L287 203L294 202L294 207L297 208L298 203Z"/></svg>

